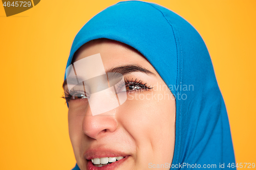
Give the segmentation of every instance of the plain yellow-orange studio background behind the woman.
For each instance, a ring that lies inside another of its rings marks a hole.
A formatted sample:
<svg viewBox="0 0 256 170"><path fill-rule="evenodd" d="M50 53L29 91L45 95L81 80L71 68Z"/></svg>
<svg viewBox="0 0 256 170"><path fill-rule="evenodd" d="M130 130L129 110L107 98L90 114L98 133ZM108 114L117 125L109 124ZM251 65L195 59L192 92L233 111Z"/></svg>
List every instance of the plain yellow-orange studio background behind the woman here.
<svg viewBox="0 0 256 170"><path fill-rule="evenodd" d="M0 3L0 169L71 169L62 82L72 41L118 1L41 1L6 17ZM151 1L203 37L222 91L238 163L256 163L256 1ZM82 19L81 19L82 18Z"/></svg>

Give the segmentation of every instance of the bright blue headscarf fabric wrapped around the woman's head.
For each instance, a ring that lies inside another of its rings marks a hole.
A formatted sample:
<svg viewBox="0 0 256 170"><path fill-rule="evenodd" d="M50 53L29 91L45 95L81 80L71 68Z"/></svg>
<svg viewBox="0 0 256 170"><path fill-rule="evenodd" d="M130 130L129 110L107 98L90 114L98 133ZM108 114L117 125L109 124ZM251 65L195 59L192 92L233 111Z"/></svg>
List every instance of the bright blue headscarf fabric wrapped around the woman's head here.
<svg viewBox="0 0 256 170"><path fill-rule="evenodd" d="M153 3L120 2L94 16L78 32L67 66L79 47L98 38L134 47L176 96L172 162L176 167L172 169L182 169L177 166L182 163L232 168L235 160L228 116L214 68L204 41L186 20ZM189 85L194 88L183 88Z"/></svg>

